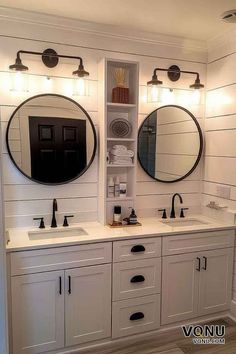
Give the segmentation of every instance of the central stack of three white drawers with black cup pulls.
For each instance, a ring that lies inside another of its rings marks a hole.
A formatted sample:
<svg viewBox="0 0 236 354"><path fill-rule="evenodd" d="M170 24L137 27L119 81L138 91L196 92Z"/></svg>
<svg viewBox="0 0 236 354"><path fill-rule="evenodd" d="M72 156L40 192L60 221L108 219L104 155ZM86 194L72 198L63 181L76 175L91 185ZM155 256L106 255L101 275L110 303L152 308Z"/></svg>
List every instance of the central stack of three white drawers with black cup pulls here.
<svg viewBox="0 0 236 354"><path fill-rule="evenodd" d="M112 338L160 327L161 237L113 243Z"/></svg>

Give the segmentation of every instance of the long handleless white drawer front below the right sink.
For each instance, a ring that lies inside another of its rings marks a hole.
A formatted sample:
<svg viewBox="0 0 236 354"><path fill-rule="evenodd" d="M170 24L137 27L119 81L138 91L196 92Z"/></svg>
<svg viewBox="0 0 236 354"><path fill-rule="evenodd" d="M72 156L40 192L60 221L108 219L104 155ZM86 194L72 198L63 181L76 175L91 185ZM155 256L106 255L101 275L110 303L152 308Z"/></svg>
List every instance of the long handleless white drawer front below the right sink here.
<svg viewBox="0 0 236 354"><path fill-rule="evenodd" d="M162 240L162 255L167 256L233 246L234 230L166 236Z"/></svg>

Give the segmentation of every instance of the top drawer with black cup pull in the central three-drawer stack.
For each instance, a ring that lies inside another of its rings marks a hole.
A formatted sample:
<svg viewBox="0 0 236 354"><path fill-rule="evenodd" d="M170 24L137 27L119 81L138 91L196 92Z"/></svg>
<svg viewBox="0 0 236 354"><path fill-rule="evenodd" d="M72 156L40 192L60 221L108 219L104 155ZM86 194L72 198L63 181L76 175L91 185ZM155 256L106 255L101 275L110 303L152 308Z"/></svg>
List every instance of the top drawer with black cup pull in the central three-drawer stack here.
<svg viewBox="0 0 236 354"><path fill-rule="evenodd" d="M161 237L139 238L113 243L113 261L123 262L161 256Z"/></svg>

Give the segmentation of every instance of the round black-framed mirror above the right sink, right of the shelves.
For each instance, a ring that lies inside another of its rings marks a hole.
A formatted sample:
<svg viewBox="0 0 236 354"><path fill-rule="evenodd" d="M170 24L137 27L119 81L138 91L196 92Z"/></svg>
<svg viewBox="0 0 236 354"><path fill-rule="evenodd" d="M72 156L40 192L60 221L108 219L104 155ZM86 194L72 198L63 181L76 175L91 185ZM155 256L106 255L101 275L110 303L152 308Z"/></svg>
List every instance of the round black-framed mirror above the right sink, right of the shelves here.
<svg viewBox="0 0 236 354"><path fill-rule="evenodd" d="M183 107L160 107L139 128L139 162L159 182L173 183L189 176L197 167L202 150L200 125Z"/></svg>

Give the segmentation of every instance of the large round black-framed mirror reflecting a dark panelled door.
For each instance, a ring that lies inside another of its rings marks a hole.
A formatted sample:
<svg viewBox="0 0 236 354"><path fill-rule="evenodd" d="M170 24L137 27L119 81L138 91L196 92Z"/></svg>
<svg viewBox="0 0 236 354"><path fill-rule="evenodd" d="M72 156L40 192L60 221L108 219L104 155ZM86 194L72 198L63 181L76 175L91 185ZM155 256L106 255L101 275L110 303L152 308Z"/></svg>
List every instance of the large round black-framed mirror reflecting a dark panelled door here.
<svg viewBox="0 0 236 354"><path fill-rule="evenodd" d="M24 101L7 127L7 149L26 177L43 184L63 184L80 177L95 157L93 122L77 102L56 94Z"/></svg>

